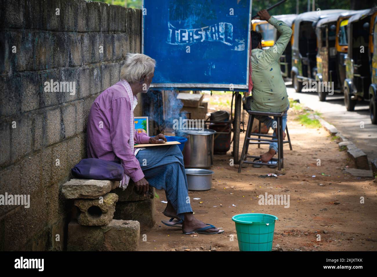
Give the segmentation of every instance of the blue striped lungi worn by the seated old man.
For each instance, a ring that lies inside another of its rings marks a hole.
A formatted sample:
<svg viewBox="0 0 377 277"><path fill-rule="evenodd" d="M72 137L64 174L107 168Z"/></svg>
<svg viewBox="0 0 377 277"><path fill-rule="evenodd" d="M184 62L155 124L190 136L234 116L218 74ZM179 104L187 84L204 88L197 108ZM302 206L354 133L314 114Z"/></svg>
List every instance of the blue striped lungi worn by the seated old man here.
<svg viewBox="0 0 377 277"><path fill-rule="evenodd" d="M139 150L136 159L149 185L165 190L166 198L181 219L184 219L183 213L192 212L183 155L178 145L146 147Z"/></svg>

